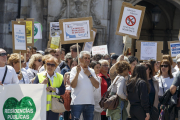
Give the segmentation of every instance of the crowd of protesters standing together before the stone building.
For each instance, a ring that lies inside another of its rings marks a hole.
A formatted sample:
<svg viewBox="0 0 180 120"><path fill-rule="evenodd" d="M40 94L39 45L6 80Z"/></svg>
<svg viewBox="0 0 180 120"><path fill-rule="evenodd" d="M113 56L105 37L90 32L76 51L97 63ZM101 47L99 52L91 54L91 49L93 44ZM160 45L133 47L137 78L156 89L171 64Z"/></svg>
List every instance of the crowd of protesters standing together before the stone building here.
<svg viewBox="0 0 180 120"><path fill-rule="evenodd" d="M115 53L91 56L77 45L69 53L63 48L37 51L30 47L25 56L8 55L0 48L0 85L46 84L47 120L58 120L60 114L64 120L173 120L179 95L173 105L164 101L178 94L179 68L180 54L175 59L163 55L162 61L139 61ZM70 110L52 112L52 96L60 98L66 90L71 93ZM107 91L119 97L115 109L99 105ZM154 109L158 110L156 119ZM164 114L166 110L168 114Z"/></svg>

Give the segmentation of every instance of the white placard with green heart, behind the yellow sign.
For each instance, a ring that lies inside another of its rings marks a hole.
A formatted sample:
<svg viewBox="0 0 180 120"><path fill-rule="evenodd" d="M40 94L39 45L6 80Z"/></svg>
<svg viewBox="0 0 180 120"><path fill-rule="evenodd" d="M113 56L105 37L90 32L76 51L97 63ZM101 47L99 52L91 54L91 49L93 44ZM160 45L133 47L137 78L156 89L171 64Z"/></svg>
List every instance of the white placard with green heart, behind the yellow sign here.
<svg viewBox="0 0 180 120"><path fill-rule="evenodd" d="M41 23L34 23L34 39L42 39Z"/></svg>

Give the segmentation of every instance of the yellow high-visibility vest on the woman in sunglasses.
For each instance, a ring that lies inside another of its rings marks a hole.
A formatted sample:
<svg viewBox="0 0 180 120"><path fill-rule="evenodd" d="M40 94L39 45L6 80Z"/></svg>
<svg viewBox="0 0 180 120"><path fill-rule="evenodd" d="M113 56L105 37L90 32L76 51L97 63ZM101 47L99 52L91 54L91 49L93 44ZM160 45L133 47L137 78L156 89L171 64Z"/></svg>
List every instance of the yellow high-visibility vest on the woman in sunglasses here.
<svg viewBox="0 0 180 120"><path fill-rule="evenodd" d="M39 79L39 83L42 83L44 81L44 79L46 78L44 72L42 73L38 73L38 79ZM59 88L63 82L63 76L59 73L56 73L56 77L54 76L54 79L53 79L53 85L52 85L52 82L51 80L50 81L50 85L53 87L53 88ZM47 87L49 85L47 84ZM51 98L52 97L56 97L56 98L60 98L60 95L56 95L55 92L47 92L47 103L46 103L46 111L49 111L51 110Z"/></svg>

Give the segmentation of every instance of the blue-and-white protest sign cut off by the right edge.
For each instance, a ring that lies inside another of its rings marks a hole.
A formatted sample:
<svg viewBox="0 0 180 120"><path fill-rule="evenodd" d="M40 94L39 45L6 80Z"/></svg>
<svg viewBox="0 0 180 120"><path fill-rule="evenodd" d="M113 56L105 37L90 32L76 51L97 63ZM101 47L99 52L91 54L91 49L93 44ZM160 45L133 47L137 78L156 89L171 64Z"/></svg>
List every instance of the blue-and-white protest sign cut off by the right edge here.
<svg viewBox="0 0 180 120"><path fill-rule="evenodd" d="M176 57L180 54L180 42L179 41L168 41L169 55Z"/></svg>

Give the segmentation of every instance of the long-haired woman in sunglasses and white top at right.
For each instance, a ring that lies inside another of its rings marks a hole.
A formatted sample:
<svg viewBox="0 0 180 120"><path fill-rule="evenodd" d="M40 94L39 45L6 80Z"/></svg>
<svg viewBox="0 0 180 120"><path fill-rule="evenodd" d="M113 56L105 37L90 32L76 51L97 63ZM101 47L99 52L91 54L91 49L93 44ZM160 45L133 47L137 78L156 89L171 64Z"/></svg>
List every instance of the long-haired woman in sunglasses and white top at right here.
<svg viewBox="0 0 180 120"><path fill-rule="evenodd" d="M163 96L167 89L169 89L173 83L173 75L171 72L171 64L169 60L164 59L160 63L160 73L155 76L159 81L159 97Z"/></svg>

